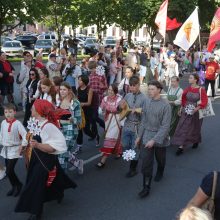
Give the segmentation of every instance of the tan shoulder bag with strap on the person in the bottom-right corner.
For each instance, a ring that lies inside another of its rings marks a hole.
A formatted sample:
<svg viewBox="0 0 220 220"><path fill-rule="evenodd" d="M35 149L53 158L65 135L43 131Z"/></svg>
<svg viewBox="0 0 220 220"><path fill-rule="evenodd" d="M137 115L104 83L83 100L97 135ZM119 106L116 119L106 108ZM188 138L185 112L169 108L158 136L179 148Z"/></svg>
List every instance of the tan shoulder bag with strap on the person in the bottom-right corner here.
<svg viewBox="0 0 220 220"><path fill-rule="evenodd" d="M203 204L202 209L208 210L211 215L214 217L215 213L215 192L218 180L218 173L216 171L213 172L213 184L212 184L212 195L211 197Z"/></svg>

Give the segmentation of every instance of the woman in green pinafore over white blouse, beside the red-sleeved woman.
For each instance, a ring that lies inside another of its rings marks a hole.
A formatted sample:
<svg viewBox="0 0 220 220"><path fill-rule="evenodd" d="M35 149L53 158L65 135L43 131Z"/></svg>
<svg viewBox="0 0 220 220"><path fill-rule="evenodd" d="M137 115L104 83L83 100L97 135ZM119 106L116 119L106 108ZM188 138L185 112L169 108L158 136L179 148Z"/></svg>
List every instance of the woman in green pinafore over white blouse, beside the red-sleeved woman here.
<svg viewBox="0 0 220 220"><path fill-rule="evenodd" d="M170 124L170 136L172 137L179 121L179 110L181 106L181 98L183 90L179 87L179 77L171 77L170 87L167 92L167 99L172 109L172 119Z"/></svg>

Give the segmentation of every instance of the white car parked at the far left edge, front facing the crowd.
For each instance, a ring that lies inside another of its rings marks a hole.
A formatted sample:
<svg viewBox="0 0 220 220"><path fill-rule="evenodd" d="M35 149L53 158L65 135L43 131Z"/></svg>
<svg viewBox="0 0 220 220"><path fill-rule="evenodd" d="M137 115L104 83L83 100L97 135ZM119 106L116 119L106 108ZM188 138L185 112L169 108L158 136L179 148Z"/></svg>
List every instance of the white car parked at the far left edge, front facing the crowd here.
<svg viewBox="0 0 220 220"><path fill-rule="evenodd" d="M9 57L23 56L24 48L20 41L5 41L2 51Z"/></svg>

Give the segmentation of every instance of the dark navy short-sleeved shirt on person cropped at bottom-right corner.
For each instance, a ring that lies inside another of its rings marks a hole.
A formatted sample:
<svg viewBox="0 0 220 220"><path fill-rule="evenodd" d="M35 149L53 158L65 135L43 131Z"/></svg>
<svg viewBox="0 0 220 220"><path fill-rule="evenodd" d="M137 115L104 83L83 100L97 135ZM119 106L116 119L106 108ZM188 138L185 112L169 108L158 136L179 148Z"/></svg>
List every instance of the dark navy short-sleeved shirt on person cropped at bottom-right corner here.
<svg viewBox="0 0 220 220"><path fill-rule="evenodd" d="M209 197L212 195L213 176L213 172L206 175L200 185L202 191ZM220 172L218 172L218 180L215 192L215 219L220 219Z"/></svg>

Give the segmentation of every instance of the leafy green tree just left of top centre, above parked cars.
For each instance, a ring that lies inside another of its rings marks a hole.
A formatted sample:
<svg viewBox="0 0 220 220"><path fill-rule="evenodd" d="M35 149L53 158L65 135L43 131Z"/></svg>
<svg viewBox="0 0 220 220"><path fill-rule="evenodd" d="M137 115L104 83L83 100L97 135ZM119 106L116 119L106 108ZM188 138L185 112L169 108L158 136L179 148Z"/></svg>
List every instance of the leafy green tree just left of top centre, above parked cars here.
<svg viewBox="0 0 220 220"><path fill-rule="evenodd" d="M101 33L113 23L115 0L81 0L79 3L79 19L83 27L97 26L98 39L101 42Z"/></svg>

